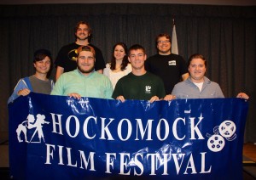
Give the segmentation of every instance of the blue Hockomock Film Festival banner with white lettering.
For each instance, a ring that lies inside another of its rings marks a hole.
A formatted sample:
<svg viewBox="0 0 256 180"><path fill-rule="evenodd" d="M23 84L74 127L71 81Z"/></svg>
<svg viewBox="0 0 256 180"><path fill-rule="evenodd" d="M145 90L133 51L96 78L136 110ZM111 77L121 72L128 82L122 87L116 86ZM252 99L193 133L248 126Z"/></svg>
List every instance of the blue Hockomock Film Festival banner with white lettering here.
<svg viewBox="0 0 256 180"><path fill-rule="evenodd" d="M9 104L15 179L242 179L248 104L30 93Z"/></svg>

